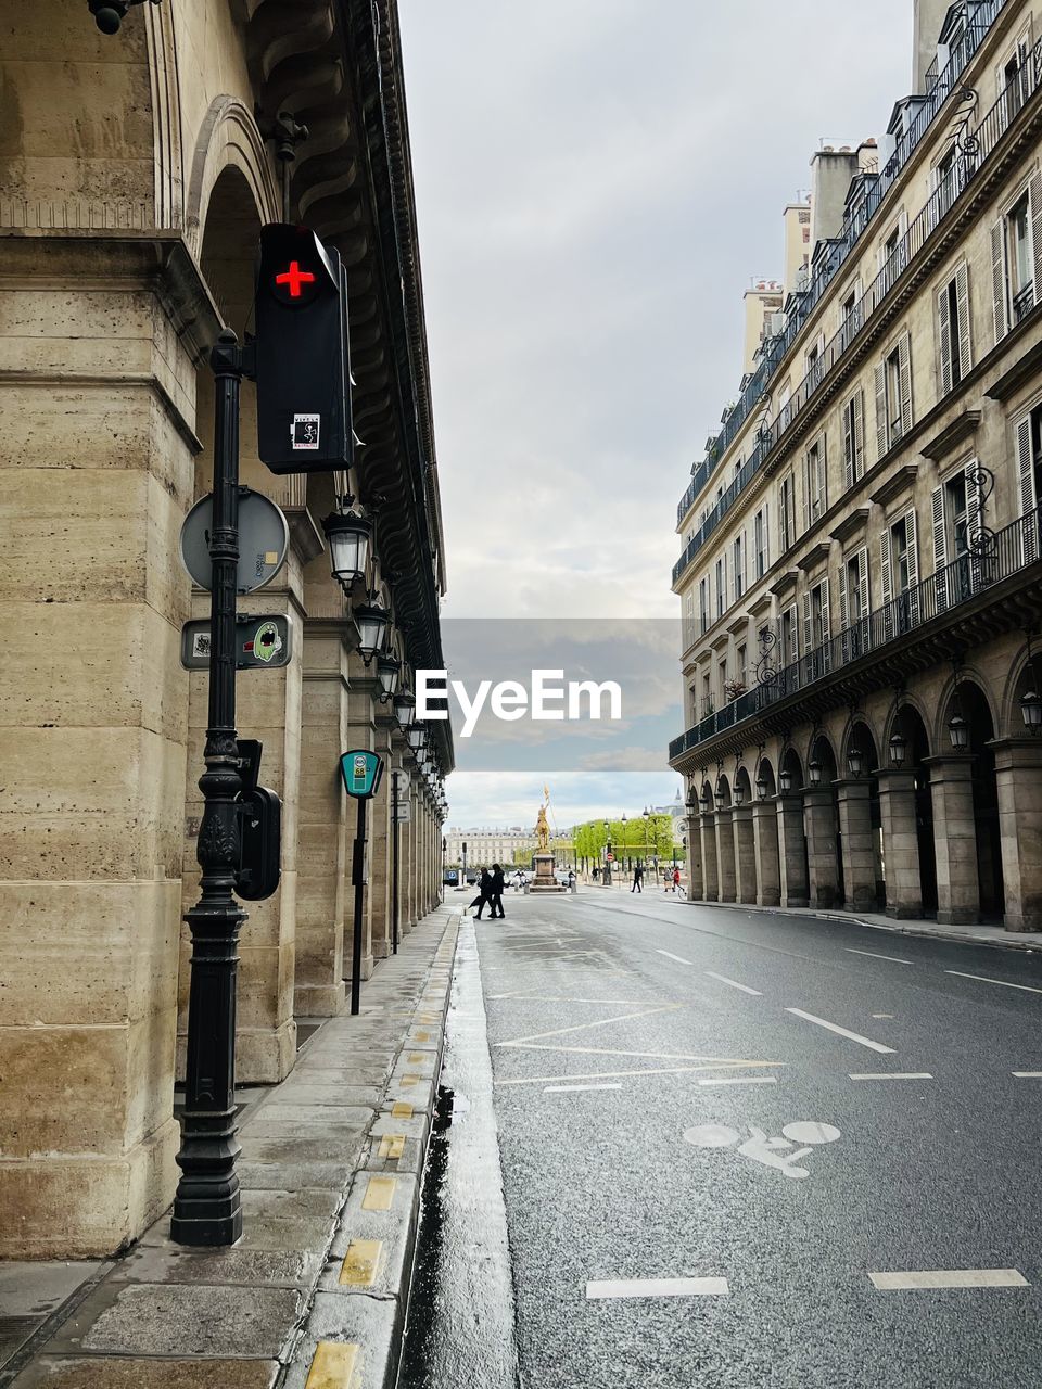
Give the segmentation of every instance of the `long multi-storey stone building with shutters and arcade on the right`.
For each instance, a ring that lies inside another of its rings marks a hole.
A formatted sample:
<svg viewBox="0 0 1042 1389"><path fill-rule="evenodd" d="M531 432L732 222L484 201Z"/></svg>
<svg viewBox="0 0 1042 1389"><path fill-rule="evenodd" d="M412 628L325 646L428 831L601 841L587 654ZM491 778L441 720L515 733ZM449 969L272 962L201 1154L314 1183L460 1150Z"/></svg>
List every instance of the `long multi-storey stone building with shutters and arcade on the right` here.
<svg viewBox="0 0 1042 1389"><path fill-rule="evenodd" d="M914 8L679 506L670 761L696 897L1038 929L1042 6Z"/></svg>

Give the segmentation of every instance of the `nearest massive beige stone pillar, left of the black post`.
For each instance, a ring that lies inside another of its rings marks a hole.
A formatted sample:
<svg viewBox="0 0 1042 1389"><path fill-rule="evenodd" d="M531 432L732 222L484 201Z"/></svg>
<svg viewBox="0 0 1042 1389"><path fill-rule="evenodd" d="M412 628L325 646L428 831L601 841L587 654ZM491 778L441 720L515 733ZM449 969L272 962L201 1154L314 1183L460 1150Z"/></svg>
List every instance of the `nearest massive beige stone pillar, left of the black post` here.
<svg viewBox="0 0 1042 1389"><path fill-rule="evenodd" d="M21 33L24 54L32 42ZM147 71L113 57L89 81L140 71L126 92L149 125ZM110 111L124 133L126 100ZM93 122L42 101L57 124L36 129L40 150L65 149L63 122ZM10 169L21 135L15 119ZM97 165L38 163L72 178ZM151 189L151 160L138 168ZM176 1182L190 592L178 533L201 447L195 364L220 325L195 263L163 238L36 232L3 247L0 1256L100 1257Z"/></svg>

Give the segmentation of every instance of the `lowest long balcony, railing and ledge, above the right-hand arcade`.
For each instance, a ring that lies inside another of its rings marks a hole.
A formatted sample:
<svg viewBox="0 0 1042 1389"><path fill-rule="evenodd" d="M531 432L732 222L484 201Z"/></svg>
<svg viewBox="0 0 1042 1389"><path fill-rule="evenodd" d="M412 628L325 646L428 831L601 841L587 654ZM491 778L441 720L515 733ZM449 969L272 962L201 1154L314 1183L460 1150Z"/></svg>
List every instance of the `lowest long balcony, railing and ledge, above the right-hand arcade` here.
<svg viewBox="0 0 1042 1389"><path fill-rule="evenodd" d="M999 603L1009 596L1007 592L1003 589L992 594L992 590L999 590L1004 581L1038 564L1041 536L1042 508L999 531L989 547L971 550L953 560L928 579L899 593L891 603L777 671L772 678L703 718L686 733L674 738L670 743L670 763L675 764L718 733L757 717L763 720L775 707L793 696L810 693L825 679L832 678L836 683L852 679L854 688L857 683L861 688L886 683L895 675L892 669L881 671L878 682L866 682L866 667L889 667L889 657L899 663L907 644L918 646L943 635L942 644L950 653L950 629L960 625L963 614L971 606L988 607L989 633L1017 626L1020 614L1010 604L1003 611ZM989 596L995 597L995 606L988 601Z"/></svg>

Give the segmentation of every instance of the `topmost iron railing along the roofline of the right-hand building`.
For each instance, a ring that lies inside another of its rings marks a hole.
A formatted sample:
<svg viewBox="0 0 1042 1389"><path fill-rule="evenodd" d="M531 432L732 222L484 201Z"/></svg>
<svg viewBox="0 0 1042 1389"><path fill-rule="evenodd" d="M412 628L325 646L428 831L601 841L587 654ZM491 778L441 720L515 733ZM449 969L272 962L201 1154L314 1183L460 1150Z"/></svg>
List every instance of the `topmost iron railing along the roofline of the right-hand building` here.
<svg viewBox="0 0 1042 1389"><path fill-rule="evenodd" d="M932 64L927 74L927 94L921 97L921 104L914 118L898 139L893 154L868 183L866 197L850 211L841 235L829 243L827 253L814 269L814 276L809 286L793 296L785 329L777 338L766 340L760 365L746 382L738 403L727 417L724 428L713 442L709 454L693 471L692 482L677 507L678 525L690 510L692 503L709 482L714 468L727 453L729 444L738 438L749 417L757 407L761 407L763 396L782 357L796 340L810 313L816 308L818 300L860 240L879 203L889 192L891 185L903 169L916 146L929 129L938 111L959 86L959 78L1009 3L1010 0L982 0L982 3L973 4L967 13L963 35L952 46L950 58L943 71L938 74L936 61ZM1035 90L1035 85L1031 85L1031 92ZM1017 93L1020 100L1016 108L1003 93L1002 100L1006 104L1007 122L1029 94L1023 83L1018 83Z"/></svg>

